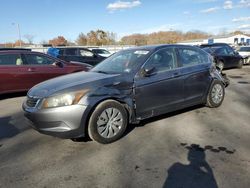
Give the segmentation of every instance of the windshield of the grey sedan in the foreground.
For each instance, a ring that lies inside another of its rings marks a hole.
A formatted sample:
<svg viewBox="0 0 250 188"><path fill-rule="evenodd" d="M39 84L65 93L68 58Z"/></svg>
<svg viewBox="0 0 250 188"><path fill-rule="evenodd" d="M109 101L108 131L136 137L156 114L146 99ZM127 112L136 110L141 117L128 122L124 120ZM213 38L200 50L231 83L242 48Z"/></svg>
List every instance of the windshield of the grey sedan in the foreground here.
<svg viewBox="0 0 250 188"><path fill-rule="evenodd" d="M91 71L102 73L130 73L148 57L148 50L123 50L105 59Z"/></svg>

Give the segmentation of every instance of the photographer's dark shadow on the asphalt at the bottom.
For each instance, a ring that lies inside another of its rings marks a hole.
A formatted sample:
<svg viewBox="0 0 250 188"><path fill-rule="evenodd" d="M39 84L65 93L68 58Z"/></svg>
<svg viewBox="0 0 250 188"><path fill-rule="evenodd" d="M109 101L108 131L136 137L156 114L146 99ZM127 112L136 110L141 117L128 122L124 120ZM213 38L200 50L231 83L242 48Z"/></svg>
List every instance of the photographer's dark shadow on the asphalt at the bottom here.
<svg viewBox="0 0 250 188"><path fill-rule="evenodd" d="M168 169L163 188L218 188L213 170L206 161L206 149L195 144L185 148L189 164L174 163Z"/></svg>

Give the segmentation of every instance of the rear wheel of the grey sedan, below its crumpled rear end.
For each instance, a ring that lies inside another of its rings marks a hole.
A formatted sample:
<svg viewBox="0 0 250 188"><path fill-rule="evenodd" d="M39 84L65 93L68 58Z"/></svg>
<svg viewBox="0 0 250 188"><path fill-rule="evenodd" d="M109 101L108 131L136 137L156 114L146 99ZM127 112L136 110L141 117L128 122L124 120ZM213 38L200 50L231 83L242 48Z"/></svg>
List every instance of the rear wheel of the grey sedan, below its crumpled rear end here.
<svg viewBox="0 0 250 188"><path fill-rule="evenodd" d="M225 86L219 80L214 80L210 86L206 106L210 108L219 107L225 96Z"/></svg>

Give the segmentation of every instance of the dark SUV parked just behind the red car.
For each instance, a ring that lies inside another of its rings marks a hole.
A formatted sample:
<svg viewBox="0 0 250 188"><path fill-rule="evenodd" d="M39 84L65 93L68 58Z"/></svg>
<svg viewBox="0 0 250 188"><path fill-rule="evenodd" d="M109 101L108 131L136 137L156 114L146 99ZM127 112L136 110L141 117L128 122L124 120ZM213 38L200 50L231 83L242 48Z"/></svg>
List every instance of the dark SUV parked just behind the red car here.
<svg viewBox="0 0 250 188"><path fill-rule="evenodd" d="M49 48L47 53L65 61L82 62L91 66L97 65L105 59L105 57L102 57L87 48L79 47Z"/></svg>

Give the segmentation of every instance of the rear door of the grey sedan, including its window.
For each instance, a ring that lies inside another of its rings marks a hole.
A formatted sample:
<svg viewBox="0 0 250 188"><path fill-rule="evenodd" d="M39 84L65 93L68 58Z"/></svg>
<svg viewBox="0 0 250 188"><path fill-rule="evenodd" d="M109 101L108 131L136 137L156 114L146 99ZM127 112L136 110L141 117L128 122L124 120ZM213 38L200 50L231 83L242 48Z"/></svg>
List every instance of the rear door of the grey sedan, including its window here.
<svg viewBox="0 0 250 188"><path fill-rule="evenodd" d="M178 61L184 78L185 106L201 103L211 83L210 56L198 48L180 47Z"/></svg>

